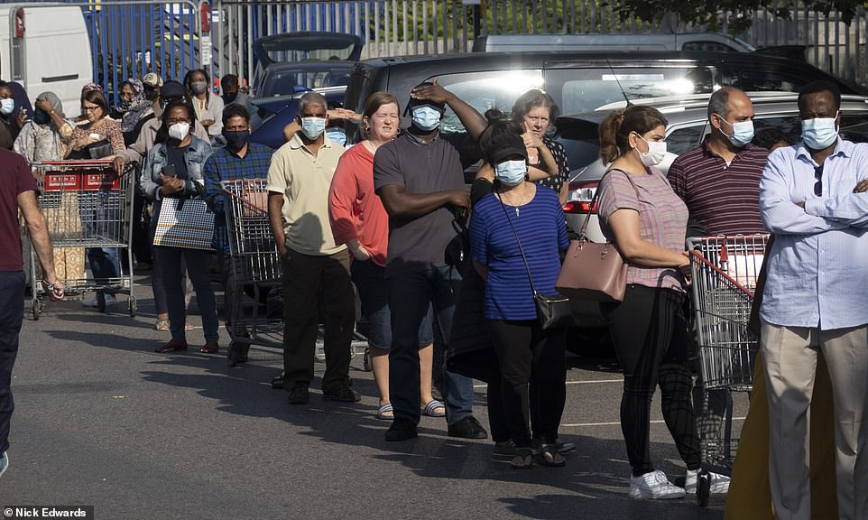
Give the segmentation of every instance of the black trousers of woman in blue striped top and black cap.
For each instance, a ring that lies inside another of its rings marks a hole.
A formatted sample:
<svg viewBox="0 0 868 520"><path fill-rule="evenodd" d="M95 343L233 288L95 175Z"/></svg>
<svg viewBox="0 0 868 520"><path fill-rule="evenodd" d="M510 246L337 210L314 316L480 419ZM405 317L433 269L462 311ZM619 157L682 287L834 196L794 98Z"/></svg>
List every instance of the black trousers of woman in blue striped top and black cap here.
<svg viewBox="0 0 868 520"><path fill-rule="evenodd" d="M567 400L567 331L543 330L537 320L489 320L488 324L500 366L500 395L509 436L516 447L531 447L532 400L534 428L541 441L556 441Z"/></svg>

